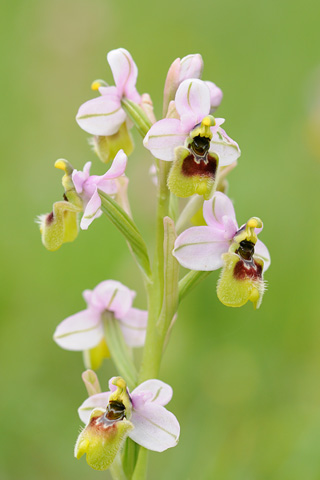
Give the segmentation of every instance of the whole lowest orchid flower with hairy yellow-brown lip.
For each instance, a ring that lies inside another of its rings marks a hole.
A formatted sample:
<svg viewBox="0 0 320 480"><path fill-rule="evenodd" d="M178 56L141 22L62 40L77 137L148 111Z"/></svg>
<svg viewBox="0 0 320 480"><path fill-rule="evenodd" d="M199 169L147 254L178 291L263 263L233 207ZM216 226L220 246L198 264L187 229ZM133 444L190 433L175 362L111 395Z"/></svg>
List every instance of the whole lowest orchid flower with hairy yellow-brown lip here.
<svg viewBox="0 0 320 480"><path fill-rule="evenodd" d="M109 392L89 397L78 413L86 427L80 433L75 457L86 453L95 470L112 465L125 439L156 452L177 445L180 426L164 406L172 398L172 388L160 380L147 380L129 392L121 377L109 381Z"/></svg>

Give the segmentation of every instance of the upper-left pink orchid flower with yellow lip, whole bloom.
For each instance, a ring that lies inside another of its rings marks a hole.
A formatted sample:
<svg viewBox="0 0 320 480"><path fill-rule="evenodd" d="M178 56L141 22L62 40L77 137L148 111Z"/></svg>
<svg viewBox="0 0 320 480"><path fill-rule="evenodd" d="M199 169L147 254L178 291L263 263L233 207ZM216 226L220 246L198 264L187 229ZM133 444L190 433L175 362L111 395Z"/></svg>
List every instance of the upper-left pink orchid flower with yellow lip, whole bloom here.
<svg viewBox="0 0 320 480"><path fill-rule="evenodd" d="M141 102L136 89L138 69L130 53L124 48L111 50L107 60L115 86L106 86L101 80L94 81L91 88L98 90L101 96L81 105L76 116L79 126L94 135L92 144L103 162L113 160L120 149L127 155L132 153L131 123L121 106L121 100L126 98L137 104Z"/></svg>

